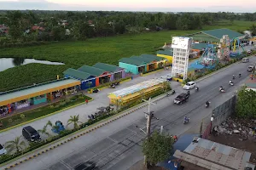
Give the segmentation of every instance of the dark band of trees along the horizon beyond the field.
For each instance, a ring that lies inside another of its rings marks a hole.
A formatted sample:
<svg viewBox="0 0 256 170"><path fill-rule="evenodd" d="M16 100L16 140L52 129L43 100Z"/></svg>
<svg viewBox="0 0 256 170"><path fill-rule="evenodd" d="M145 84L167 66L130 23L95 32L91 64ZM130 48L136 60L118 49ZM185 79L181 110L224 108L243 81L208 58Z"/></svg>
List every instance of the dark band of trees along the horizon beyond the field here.
<svg viewBox="0 0 256 170"><path fill-rule="evenodd" d="M219 20L256 20L254 14L2 11L0 24L9 27L8 37L22 42L84 40L124 33L160 30L198 30ZM32 26L44 29L32 30ZM256 33L256 32L255 32ZM1 39L0 39L1 40ZM2 40L3 41L3 40Z"/></svg>

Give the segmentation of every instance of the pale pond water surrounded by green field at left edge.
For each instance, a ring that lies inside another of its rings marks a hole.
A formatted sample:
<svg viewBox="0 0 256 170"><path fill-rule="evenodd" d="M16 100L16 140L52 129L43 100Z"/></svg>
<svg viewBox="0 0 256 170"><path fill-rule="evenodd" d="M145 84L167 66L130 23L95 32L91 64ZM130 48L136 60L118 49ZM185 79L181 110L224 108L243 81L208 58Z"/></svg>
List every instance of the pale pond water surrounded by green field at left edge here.
<svg viewBox="0 0 256 170"><path fill-rule="evenodd" d="M40 63L44 65L65 65L64 63L51 62L38 59L23 59L23 58L0 58L0 71L5 71L15 66L27 65L30 63Z"/></svg>

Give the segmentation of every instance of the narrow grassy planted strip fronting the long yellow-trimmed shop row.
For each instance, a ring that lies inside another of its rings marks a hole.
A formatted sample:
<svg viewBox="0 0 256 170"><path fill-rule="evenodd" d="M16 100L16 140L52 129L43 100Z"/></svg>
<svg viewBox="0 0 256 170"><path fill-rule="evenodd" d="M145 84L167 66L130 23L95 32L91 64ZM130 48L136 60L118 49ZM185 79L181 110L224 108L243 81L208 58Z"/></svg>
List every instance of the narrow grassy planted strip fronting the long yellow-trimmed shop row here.
<svg viewBox="0 0 256 170"><path fill-rule="evenodd" d="M1 121L3 122L3 127L0 127L0 130L6 129L8 127L14 127L15 125L18 125L22 122L31 121L31 120L36 119L41 116L49 115L55 111L61 111L65 108L73 106L73 105L78 105L80 103L84 103L84 99L88 99L88 100L91 99L90 97L85 96L85 95L83 95L83 98L80 98L80 96L81 95L73 96L68 102L66 102L65 105L59 105L59 103L61 102L60 101L60 102L54 103L52 105L46 105L46 106L40 107L38 109L34 109L32 111L23 112L22 114L25 115L24 118L21 118L20 114L11 116L11 118L9 118L9 117L3 118L3 119L1 119ZM49 122L47 125L52 126L52 125L50 125Z"/></svg>

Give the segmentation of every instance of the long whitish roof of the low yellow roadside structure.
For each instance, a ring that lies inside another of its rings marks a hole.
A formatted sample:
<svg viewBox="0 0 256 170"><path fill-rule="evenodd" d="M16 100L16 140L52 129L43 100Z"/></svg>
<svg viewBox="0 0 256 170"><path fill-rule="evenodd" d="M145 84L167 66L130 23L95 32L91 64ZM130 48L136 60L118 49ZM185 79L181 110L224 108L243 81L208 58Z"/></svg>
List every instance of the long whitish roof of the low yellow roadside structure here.
<svg viewBox="0 0 256 170"><path fill-rule="evenodd" d="M136 85L130 86L128 88L123 88L123 89L117 90L115 92L110 93L109 95L113 95L115 97L125 97L129 94L134 94L143 89L153 87L153 86L158 85L165 81L166 80L164 80L162 78L151 79L151 80L144 81L144 82L138 83Z"/></svg>

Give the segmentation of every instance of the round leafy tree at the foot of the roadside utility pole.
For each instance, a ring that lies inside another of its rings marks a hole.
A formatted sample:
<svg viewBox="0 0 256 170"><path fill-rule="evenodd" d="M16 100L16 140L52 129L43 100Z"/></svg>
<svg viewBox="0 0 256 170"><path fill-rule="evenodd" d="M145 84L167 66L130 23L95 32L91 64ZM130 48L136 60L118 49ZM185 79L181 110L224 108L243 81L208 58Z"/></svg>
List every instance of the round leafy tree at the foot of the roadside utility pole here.
<svg viewBox="0 0 256 170"><path fill-rule="evenodd" d="M169 158L173 139L167 134L154 132L149 139L143 141L143 154L152 165Z"/></svg>

